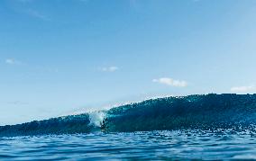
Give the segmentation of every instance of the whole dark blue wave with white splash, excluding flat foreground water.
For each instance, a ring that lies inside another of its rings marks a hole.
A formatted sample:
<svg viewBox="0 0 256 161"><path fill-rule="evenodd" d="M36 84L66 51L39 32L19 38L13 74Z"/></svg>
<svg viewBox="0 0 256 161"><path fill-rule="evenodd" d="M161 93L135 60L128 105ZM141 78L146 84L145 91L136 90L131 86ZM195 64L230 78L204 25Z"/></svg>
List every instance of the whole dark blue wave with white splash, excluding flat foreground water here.
<svg viewBox="0 0 256 161"><path fill-rule="evenodd" d="M255 131L256 94L206 94L131 103L104 112L84 113L45 121L0 127L0 136L107 131L217 130Z"/></svg>

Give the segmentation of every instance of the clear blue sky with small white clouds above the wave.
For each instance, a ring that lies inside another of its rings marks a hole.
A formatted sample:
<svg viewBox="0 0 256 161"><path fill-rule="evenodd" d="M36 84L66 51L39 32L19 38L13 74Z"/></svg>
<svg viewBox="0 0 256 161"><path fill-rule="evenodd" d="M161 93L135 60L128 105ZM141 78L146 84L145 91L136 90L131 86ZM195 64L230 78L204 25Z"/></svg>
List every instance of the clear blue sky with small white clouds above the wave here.
<svg viewBox="0 0 256 161"><path fill-rule="evenodd" d="M0 125L256 92L255 0L1 0Z"/></svg>

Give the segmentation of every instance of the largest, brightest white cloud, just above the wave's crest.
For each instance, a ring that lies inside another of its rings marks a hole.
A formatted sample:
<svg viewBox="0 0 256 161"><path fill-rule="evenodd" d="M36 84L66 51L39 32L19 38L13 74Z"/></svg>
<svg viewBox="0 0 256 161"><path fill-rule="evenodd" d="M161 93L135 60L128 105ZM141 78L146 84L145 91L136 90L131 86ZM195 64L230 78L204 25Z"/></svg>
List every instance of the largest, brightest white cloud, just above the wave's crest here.
<svg viewBox="0 0 256 161"><path fill-rule="evenodd" d="M186 81L174 80L169 77L160 77L158 79L153 79L152 82L159 83L162 85L169 85L169 86L178 86L178 87L185 87L187 86Z"/></svg>

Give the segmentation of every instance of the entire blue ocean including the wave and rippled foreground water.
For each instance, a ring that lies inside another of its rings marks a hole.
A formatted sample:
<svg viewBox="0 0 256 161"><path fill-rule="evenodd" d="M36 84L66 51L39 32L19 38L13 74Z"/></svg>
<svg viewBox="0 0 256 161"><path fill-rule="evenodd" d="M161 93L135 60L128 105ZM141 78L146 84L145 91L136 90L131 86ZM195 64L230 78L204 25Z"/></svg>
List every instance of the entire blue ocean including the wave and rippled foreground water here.
<svg viewBox="0 0 256 161"><path fill-rule="evenodd" d="M256 159L256 94L151 99L0 127L0 160L50 159Z"/></svg>

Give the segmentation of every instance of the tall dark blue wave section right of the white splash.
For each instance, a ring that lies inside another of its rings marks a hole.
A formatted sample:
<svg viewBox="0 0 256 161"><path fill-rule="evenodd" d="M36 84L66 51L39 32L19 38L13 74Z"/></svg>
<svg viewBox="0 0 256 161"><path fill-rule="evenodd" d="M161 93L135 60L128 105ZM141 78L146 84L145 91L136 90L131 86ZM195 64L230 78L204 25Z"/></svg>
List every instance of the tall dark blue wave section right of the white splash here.
<svg viewBox="0 0 256 161"><path fill-rule="evenodd" d="M110 131L254 130L256 94L207 94L133 103L107 112Z"/></svg>

